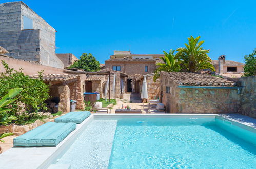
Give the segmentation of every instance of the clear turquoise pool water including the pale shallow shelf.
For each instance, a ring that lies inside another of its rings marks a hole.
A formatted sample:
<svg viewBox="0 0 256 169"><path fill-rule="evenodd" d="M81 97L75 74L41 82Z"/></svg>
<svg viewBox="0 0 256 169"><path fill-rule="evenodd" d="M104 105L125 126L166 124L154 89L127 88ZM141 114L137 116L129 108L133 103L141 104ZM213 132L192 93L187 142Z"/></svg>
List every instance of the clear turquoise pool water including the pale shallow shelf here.
<svg viewBox="0 0 256 169"><path fill-rule="evenodd" d="M255 168L256 134L219 119L99 119L57 163L71 168Z"/></svg>

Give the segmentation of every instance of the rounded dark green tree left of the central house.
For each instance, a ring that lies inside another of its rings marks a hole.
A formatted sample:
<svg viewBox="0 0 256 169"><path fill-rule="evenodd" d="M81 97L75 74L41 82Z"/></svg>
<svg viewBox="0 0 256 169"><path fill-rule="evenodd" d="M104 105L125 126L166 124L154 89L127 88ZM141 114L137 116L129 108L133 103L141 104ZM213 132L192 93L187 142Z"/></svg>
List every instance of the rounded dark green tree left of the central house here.
<svg viewBox="0 0 256 169"><path fill-rule="evenodd" d="M80 60L75 61L69 68L83 69L87 72L96 72L100 70L100 63L92 54L83 53Z"/></svg>

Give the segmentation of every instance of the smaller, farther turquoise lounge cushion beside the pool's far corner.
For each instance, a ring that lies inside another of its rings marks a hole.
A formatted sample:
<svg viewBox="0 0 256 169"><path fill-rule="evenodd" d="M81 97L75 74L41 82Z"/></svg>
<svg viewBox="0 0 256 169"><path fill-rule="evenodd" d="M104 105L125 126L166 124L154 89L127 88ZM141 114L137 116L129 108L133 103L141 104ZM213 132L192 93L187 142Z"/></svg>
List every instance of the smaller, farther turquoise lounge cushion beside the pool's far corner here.
<svg viewBox="0 0 256 169"><path fill-rule="evenodd" d="M61 117L55 118L55 122L74 122L80 124L90 115L91 113L89 111L69 112Z"/></svg>

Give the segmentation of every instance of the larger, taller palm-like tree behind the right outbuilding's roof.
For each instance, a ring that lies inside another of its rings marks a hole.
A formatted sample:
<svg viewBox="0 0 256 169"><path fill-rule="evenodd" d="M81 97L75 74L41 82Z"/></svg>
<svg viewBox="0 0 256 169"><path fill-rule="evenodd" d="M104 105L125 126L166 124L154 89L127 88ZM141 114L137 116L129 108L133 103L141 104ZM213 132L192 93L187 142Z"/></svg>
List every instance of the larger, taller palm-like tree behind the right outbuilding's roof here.
<svg viewBox="0 0 256 169"><path fill-rule="evenodd" d="M198 72L202 69L210 69L215 71L211 64L211 58L207 55L210 50L204 50L201 45L204 41L199 41L200 36L188 38L188 44L185 43L186 48L176 49L176 59L179 60L181 71L184 72Z"/></svg>

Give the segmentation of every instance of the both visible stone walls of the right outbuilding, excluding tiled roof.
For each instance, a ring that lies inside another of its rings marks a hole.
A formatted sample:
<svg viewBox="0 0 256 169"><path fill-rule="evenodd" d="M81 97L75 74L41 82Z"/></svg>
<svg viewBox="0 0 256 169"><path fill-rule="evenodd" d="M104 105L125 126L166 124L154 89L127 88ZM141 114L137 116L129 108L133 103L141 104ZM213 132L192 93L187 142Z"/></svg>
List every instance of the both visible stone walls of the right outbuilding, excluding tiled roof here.
<svg viewBox="0 0 256 169"><path fill-rule="evenodd" d="M202 81L204 81L202 79ZM221 79L220 79L221 81ZM237 87L183 86L161 73L162 102L167 113L237 113L239 92ZM228 83L227 83L228 84ZM169 90L169 91L167 91Z"/></svg>

